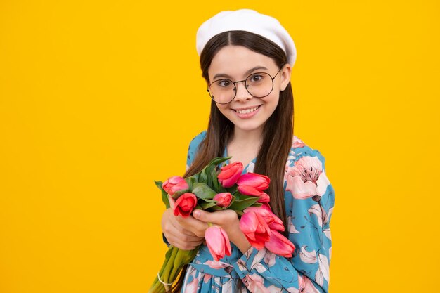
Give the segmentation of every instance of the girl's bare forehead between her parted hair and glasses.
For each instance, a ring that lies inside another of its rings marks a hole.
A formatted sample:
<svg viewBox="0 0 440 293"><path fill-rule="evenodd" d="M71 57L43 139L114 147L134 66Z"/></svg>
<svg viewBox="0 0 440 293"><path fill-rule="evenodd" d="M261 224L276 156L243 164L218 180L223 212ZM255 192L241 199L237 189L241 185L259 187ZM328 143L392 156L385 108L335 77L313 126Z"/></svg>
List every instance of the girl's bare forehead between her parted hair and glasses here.
<svg viewBox="0 0 440 293"><path fill-rule="evenodd" d="M256 66L275 69L276 63L272 58L244 46L224 46L212 58L208 69L209 79L215 74L228 74L239 79L250 68Z"/></svg>

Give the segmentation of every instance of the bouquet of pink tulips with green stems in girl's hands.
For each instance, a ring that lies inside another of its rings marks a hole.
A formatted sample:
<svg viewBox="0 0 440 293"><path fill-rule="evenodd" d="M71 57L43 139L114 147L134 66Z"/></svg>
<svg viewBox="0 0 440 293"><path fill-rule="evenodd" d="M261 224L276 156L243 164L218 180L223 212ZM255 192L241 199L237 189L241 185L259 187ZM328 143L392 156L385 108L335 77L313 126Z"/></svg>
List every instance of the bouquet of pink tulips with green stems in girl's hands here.
<svg viewBox="0 0 440 293"><path fill-rule="evenodd" d="M219 168L230 157L216 157L198 174L188 178L172 176L167 181L155 181L162 190L162 201L173 209L175 216L187 217L194 209L219 211L233 209L240 217L240 230L252 247L266 249L280 256L292 257L295 246L279 231L284 230L281 221L268 205L270 197L264 193L269 187L267 176L242 174L241 162L233 162ZM214 261L231 255L231 243L220 226L209 225L205 240ZM150 293L168 292L184 265L195 258L198 248L182 250L169 246L165 261L157 273Z"/></svg>

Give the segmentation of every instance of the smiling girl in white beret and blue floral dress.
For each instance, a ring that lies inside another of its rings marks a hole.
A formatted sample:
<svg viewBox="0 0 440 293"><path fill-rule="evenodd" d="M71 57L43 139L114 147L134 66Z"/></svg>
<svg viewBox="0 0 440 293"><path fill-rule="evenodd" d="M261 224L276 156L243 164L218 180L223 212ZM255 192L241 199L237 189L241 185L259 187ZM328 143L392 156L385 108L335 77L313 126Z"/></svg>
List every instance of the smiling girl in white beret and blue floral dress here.
<svg viewBox="0 0 440 293"><path fill-rule="evenodd" d="M295 252L287 259L251 247L235 211L195 210L183 219L168 209L162 216L167 241L181 249L201 245L172 291L328 292L334 192L324 157L293 135L292 38L270 16L224 11L199 28L197 48L211 113L207 131L190 143L184 177L224 156L242 162L243 173L271 178L270 205ZM226 230L231 256L213 261L203 244L207 223Z"/></svg>

